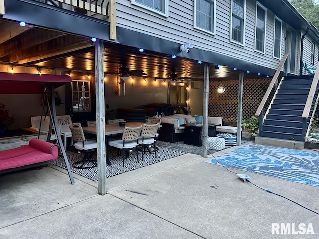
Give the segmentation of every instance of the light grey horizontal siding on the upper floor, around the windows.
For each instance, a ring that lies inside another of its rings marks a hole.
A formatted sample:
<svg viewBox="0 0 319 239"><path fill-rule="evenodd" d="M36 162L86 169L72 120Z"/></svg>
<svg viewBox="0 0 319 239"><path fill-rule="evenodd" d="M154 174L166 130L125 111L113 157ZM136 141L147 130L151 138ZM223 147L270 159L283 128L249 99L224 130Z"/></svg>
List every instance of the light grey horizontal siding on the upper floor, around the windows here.
<svg viewBox="0 0 319 239"><path fill-rule="evenodd" d="M215 36L193 28L193 0L169 0L168 17L132 5L130 0L118 0L116 4L116 21L119 27L178 43L192 42L195 48L218 52L273 69L276 69L280 62L273 58L274 14L269 10L267 10L265 54L254 51L256 0L247 0L246 3L244 47L230 42L231 0L217 0ZM282 57L284 33L283 30Z"/></svg>

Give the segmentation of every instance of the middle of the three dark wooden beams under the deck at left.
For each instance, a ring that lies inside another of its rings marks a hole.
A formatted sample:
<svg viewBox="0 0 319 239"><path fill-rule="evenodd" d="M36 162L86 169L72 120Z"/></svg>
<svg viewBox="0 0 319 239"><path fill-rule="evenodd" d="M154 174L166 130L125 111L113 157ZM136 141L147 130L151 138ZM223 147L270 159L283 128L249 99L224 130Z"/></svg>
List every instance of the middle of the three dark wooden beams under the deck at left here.
<svg viewBox="0 0 319 239"><path fill-rule="evenodd" d="M31 28L0 45L0 58L63 36L64 33Z"/></svg>

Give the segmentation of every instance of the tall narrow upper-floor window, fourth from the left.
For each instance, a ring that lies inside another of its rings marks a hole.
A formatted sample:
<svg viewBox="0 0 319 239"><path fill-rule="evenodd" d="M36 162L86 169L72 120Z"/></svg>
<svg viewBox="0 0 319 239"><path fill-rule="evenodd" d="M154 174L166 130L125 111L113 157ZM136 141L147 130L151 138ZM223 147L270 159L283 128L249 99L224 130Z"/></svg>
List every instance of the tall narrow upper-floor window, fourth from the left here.
<svg viewBox="0 0 319 239"><path fill-rule="evenodd" d="M256 3L255 51L265 53L267 9Z"/></svg>

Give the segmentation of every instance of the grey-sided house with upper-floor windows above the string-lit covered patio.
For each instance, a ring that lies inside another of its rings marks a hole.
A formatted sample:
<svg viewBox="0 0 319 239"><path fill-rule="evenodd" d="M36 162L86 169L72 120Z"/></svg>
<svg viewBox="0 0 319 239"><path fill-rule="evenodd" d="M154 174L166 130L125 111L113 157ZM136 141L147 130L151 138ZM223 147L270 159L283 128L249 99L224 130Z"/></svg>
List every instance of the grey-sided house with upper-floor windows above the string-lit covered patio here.
<svg viewBox="0 0 319 239"><path fill-rule="evenodd" d="M203 114L207 78L208 115L236 124L241 73L242 119L248 119L285 54L280 76L309 74L303 62L318 63L319 32L287 0L0 0L0 14L1 71L70 74L74 84L58 89L64 104L57 110L74 121L95 119L97 67L115 115L118 108L153 102ZM94 61L92 39L103 45L103 66ZM181 50L185 43L193 46L189 52ZM121 82L122 75L128 79ZM91 95L79 111L84 83ZM183 90L181 98L176 92ZM12 127L29 127L40 104L21 111L19 100L0 96L16 115Z"/></svg>

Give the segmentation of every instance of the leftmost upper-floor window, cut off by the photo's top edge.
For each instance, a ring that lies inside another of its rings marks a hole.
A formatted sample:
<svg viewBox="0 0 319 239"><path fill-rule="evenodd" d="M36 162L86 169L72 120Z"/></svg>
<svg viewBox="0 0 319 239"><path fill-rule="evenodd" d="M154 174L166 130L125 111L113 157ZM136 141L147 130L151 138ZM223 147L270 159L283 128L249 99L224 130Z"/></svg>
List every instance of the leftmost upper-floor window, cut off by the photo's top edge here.
<svg viewBox="0 0 319 239"><path fill-rule="evenodd" d="M131 3L168 17L168 0L131 0Z"/></svg>

